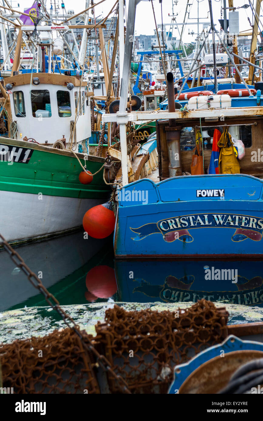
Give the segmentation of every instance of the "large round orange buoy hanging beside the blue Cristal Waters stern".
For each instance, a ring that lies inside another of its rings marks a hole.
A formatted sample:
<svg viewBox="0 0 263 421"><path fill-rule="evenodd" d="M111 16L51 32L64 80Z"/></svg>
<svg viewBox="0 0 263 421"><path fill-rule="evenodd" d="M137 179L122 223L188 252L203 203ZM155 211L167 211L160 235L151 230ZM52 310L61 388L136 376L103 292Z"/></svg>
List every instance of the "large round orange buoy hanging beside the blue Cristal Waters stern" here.
<svg viewBox="0 0 263 421"><path fill-rule="evenodd" d="M114 230L115 215L107 206L107 203L94 206L83 216L83 228L93 238L106 238Z"/></svg>

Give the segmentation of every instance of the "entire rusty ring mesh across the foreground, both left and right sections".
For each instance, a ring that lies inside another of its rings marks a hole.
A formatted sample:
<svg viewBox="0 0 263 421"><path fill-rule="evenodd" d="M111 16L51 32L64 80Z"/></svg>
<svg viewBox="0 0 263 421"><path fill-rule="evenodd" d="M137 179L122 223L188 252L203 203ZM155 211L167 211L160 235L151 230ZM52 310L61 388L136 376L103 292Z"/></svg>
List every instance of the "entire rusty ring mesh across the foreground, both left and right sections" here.
<svg viewBox="0 0 263 421"><path fill-rule="evenodd" d="M30 394L124 393L117 375L131 393L166 393L173 367L222 341L227 320L225 308L204 299L177 312L127 312L115 305L95 326L95 338L66 328L1 345L3 386ZM85 347L91 343L99 358ZM103 356L111 365L107 377L99 370Z"/></svg>

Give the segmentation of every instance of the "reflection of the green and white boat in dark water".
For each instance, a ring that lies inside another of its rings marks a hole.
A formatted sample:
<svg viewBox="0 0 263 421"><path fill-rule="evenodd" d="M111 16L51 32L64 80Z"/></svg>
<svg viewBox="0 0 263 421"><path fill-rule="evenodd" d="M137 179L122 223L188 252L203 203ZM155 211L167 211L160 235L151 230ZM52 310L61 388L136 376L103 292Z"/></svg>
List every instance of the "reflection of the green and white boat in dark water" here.
<svg viewBox="0 0 263 421"><path fill-rule="evenodd" d="M105 240L84 239L81 231L22 245L16 250L60 304L83 304L86 302L87 272L102 261L113 270L112 243L112 237ZM0 312L47 305L43 295L31 285L25 274L14 267L5 250L0 251L0 269ZM97 297L94 301L96 299L107 301Z"/></svg>

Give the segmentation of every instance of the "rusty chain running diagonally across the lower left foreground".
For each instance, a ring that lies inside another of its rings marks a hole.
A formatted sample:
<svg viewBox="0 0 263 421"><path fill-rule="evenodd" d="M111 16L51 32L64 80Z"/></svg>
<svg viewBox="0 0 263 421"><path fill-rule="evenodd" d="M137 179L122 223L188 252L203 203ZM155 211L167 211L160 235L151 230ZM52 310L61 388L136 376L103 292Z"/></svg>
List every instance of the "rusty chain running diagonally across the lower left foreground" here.
<svg viewBox="0 0 263 421"><path fill-rule="evenodd" d="M104 355L99 354L99 352L94 348L88 335L86 335L84 338L83 334L81 333L79 329L79 326L75 323L72 317L70 317L66 312L64 312L64 310L59 305L59 301L57 301L57 299L51 293L48 292L48 290L44 287L43 283L37 277L37 275L34 272L32 272L32 270L25 264L24 260L21 258L19 253L17 253L11 247L11 245L8 244L8 242L5 240L5 238L1 234L0 234L0 238L2 240L0 244L3 245L3 248L5 249L5 251L7 251L7 253L9 254L14 264L16 264L16 266L19 267L22 270L22 272L24 272L24 274L27 276L27 279L31 282L31 284L35 288L40 290L40 292L45 297L46 302L52 307L52 309L56 310L59 313L60 317L62 317L67 327L74 330L74 332L81 338L84 348L88 352L89 351L93 352L93 354L96 357L97 363L102 368L102 370L110 373L115 378L115 380L120 385L120 389L124 393L131 394L131 392L128 389L128 385L126 381L120 375L117 375L113 371L113 369L111 368L110 362L107 360L107 358ZM70 322L72 323L72 325L70 325ZM88 345L86 344L85 341L88 342Z"/></svg>

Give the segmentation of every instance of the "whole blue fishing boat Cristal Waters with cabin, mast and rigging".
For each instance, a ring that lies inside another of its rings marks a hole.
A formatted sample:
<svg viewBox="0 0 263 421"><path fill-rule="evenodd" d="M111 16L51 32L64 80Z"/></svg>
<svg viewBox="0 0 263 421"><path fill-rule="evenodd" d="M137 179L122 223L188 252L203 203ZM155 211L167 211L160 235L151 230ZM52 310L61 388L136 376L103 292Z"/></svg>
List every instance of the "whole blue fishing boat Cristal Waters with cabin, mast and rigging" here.
<svg viewBox="0 0 263 421"><path fill-rule="evenodd" d="M135 3L129 8L127 35L133 34L133 8ZM131 51L131 45L126 43L123 75L130 69ZM233 58L230 60L240 75ZM103 116L103 122L119 124L121 138L121 173L115 179L117 258L263 256L261 91L244 97L218 94L220 88L244 86L249 94L252 85L248 86L243 78L244 85L218 85L216 66L214 57L214 85L209 85L215 88L213 99L193 96L187 109L175 109L174 75L169 72L168 110L127 113L128 81L122 79L119 112ZM200 87L200 91L204 88ZM200 104L196 102L195 106L196 98L200 98ZM145 152L137 147L128 149L126 124L143 120L156 120L156 143ZM190 133L188 141L182 133L185 129ZM234 152L232 139L242 141L244 157L236 149ZM154 151L158 157L154 157L156 167L152 168ZM200 168L196 169L196 165Z"/></svg>

